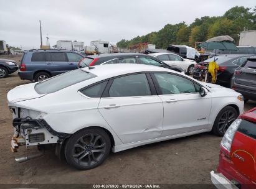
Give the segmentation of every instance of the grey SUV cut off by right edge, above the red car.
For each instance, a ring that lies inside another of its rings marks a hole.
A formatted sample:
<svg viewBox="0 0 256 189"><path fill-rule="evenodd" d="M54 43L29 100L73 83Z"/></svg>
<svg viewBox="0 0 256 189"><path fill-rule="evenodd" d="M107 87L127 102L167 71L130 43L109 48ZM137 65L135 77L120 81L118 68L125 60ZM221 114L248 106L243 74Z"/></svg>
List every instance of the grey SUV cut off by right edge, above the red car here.
<svg viewBox="0 0 256 189"><path fill-rule="evenodd" d="M256 100L256 57L247 58L247 61L235 70L231 88L243 94L247 100Z"/></svg>

